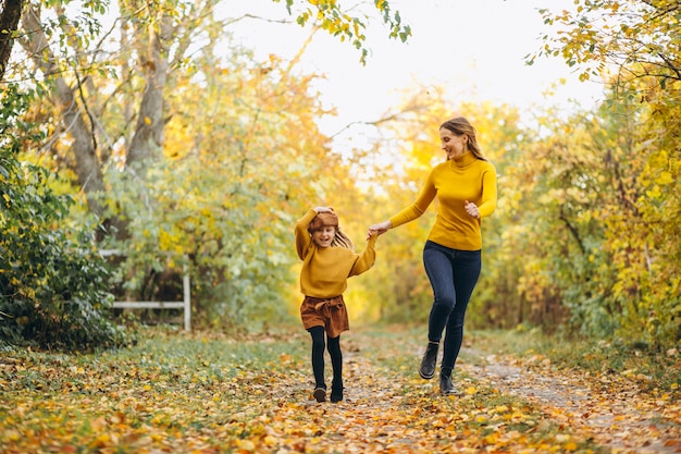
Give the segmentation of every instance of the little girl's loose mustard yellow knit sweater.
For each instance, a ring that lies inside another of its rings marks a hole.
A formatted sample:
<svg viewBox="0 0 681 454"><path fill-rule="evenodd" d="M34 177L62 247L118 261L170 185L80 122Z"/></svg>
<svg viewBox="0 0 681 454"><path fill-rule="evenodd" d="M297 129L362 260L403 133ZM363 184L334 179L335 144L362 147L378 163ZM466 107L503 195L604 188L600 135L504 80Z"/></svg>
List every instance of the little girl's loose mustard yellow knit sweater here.
<svg viewBox="0 0 681 454"><path fill-rule="evenodd" d="M345 247L317 247L308 233L308 224L317 216L310 209L296 222L296 250L302 260L300 292L315 298L339 296L347 289L347 279L368 271L376 258L376 235L367 243L362 254Z"/></svg>

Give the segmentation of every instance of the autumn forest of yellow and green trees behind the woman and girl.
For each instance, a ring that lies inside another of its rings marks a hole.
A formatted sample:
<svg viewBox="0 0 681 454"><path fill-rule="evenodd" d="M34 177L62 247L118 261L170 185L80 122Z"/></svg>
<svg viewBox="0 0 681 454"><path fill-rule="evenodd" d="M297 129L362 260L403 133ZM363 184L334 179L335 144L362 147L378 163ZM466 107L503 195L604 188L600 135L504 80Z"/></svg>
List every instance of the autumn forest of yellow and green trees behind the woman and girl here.
<svg viewBox="0 0 681 454"><path fill-rule="evenodd" d="M203 328L261 331L294 321L300 295L293 225L337 208L359 250L370 223L410 204L442 156L437 127L462 112L498 171L483 223L476 328L636 343L681 339L681 5L582 1L541 10L546 35L528 64L561 59L604 84L596 106L453 102L413 88L342 149L322 73L231 40L249 14L214 0L4 0L0 64L0 335L83 349L122 341L114 298L169 300L191 275ZM408 41L386 1L282 2L289 26L327 32L370 57L379 22ZM404 20L404 22L403 22ZM524 115L524 116L523 116ZM421 248L435 208L383 235L347 293L351 323L424 321ZM102 250L125 251L107 260ZM124 339L123 339L124 340Z"/></svg>

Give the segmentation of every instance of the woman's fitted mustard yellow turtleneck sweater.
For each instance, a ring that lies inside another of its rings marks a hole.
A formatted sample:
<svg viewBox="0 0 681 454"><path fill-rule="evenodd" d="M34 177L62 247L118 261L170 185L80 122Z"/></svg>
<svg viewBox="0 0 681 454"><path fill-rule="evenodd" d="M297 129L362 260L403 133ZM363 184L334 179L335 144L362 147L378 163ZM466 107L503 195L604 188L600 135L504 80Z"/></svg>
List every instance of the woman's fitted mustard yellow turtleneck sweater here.
<svg viewBox="0 0 681 454"><path fill-rule="evenodd" d="M433 168L416 201L391 218L393 226L425 212L437 196L439 209L428 240L451 249L482 249L481 220L470 216L466 200L478 205L481 219L496 208L496 169L470 151Z"/></svg>

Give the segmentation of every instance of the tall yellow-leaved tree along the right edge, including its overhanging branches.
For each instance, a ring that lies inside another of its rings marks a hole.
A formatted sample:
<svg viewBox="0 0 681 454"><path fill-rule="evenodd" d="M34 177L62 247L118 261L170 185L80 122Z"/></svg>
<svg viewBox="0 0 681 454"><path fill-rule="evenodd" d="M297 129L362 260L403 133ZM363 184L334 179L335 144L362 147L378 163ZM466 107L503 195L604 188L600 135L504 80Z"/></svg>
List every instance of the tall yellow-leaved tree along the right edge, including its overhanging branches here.
<svg viewBox="0 0 681 454"><path fill-rule="evenodd" d="M603 159L596 177L610 182L610 200L591 213L603 219L603 250L611 330L657 347L681 339L677 238L681 184L678 162L681 88L681 4L661 0L578 1L574 12L545 22L561 26L545 36L538 56L562 57L582 79L603 76L610 87L593 132ZM586 172L585 172L586 173ZM589 297L587 297L589 298ZM593 312L592 312L593 315Z"/></svg>

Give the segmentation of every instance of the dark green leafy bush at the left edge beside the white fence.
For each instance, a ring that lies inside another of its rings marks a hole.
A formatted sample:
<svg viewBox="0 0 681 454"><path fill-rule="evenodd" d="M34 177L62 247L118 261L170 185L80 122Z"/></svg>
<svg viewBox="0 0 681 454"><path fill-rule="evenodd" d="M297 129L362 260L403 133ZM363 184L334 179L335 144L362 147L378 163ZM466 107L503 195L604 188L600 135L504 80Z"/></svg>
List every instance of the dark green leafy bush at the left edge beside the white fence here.
<svg viewBox="0 0 681 454"><path fill-rule="evenodd" d="M21 120L30 94L10 86L0 110L0 341L89 349L122 340L108 320L108 269L88 225L69 226L70 196L18 159L41 134Z"/></svg>

